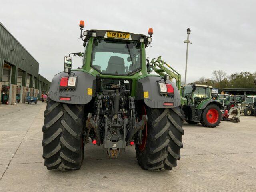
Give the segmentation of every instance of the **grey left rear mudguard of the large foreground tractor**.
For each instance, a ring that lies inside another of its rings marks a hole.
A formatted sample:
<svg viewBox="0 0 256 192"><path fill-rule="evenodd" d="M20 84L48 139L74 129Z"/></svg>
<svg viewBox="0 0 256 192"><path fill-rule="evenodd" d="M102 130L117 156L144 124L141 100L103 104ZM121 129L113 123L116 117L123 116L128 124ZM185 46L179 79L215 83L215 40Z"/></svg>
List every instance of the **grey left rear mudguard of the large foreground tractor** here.
<svg viewBox="0 0 256 192"><path fill-rule="evenodd" d="M60 78L68 76L64 72L60 72L54 76L52 79L49 97L56 101L62 103L70 104L87 104L92 100L95 94L95 82L96 77L83 71L72 71L70 76L77 77L76 87L70 90L60 87ZM62 90L62 91L61 91ZM60 97L70 97L68 100L60 100Z"/></svg>

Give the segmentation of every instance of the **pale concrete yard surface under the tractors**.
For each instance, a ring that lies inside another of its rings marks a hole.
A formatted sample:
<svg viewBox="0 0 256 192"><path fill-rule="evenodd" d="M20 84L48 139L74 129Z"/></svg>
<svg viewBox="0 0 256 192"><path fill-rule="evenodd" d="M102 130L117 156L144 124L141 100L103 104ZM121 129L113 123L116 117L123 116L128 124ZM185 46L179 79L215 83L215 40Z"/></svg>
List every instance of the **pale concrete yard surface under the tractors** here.
<svg viewBox="0 0 256 192"><path fill-rule="evenodd" d="M142 170L134 146L109 159L85 146L80 170L49 171L42 158L46 103L0 105L0 192L256 191L256 117L217 128L184 124L181 159L171 171Z"/></svg>

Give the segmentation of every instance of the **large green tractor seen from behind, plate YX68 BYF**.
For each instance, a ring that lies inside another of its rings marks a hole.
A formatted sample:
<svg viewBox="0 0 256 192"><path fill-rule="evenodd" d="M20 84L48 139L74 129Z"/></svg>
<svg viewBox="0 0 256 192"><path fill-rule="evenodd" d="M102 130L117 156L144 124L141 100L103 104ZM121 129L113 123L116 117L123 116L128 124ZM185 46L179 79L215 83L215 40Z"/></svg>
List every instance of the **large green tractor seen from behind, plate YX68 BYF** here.
<svg viewBox="0 0 256 192"><path fill-rule="evenodd" d="M85 30L80 22L82 67L64 72L50 85L43 125L43 158L48 170L77 170L89 142L117 158L135 145L146 170L171 170L183 147L180 92L170 76L152 73L146 62L149 36ZM86 154L85 154L86 155Z"/></svg>

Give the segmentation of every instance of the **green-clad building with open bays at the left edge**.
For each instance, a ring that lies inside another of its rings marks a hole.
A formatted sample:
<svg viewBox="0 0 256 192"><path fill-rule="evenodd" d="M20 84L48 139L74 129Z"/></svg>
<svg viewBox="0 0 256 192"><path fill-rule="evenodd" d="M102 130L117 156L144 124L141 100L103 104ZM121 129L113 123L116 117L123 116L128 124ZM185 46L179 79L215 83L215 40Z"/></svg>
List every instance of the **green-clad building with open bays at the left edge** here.
<svg viewBox="0 0 256 192"><path fill-rule="evenodd" d="M49 90L50 82L38 74L39 63L0 23L0 104L25 102Z"/></svg>

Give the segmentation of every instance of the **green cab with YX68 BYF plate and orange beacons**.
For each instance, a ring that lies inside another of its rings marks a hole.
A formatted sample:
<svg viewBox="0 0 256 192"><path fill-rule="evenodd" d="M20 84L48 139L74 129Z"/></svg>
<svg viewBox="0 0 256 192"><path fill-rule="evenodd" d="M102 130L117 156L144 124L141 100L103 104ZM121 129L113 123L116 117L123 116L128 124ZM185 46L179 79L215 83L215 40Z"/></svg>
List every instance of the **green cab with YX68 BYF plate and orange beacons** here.
<svg viewBox="0 0 256 192"><path fill-rule="evenodd" d="M152 40L153 29L148 35L134 34L113 30L84 30L84 22L80 22L80 38L83 40L84 52L74 55L83 56L82 66L72 69L72 58L64 58L64 72L68 76L74 71L87 72L96 76L96 91L104 89L116 90L125 87L132 96L136 91L136 80L148 74L145 48ZM74 78L76 84L76 78Z"/></svg>

